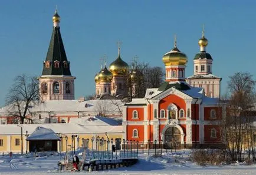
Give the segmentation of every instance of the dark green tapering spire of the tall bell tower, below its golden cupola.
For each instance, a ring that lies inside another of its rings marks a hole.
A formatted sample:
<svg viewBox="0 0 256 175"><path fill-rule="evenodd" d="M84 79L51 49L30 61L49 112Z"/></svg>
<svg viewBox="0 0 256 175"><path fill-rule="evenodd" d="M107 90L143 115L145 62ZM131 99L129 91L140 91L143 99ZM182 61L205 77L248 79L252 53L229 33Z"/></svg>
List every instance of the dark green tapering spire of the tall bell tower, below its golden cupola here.
<svg viewBox="0 0 256 175"><path fill-rule="evenodd" d="M52 29L51 41L44 62L42 75L70 75L70 62L67 61L63 41L60 34L60 27Z"/></svg>

